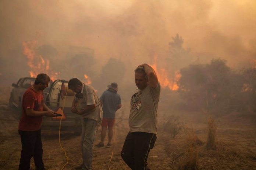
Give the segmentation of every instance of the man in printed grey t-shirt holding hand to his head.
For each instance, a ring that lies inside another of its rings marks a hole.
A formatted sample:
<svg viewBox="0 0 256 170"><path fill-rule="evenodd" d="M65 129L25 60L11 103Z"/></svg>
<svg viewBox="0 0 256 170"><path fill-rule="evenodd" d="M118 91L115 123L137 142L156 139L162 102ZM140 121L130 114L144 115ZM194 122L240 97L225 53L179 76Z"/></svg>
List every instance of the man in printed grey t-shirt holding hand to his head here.
<svg viewBox="0 0 256 170"><path fill-rule="evenodd" d="M135 84L139 90L131 98L130 132L125 138L121 156L131 169L146 170L147 156L156 141L161 88L154 69L148 64L136 68Z"/></svg>

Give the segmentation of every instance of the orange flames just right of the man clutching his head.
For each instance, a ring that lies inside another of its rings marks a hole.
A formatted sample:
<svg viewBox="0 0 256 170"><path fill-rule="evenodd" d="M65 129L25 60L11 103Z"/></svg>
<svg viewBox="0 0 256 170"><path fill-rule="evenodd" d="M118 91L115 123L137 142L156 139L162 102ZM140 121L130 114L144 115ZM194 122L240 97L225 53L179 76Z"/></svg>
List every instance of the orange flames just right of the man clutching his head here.
<svg viewBox="0 0 256 170"><path fill-rule="evenodd" d="M174 80L170 80L168 78L168 73L164 68L161 68L160 70L157 70L157 63L156 63L157 56L154 57L154 64L150 65L156 72L158 81L160 82L161 86L163 88L168 87L170 90L178 90L179 86L177 84L177 81L181 78L181 74L179 71L175 71L175 77Z"/></svg>

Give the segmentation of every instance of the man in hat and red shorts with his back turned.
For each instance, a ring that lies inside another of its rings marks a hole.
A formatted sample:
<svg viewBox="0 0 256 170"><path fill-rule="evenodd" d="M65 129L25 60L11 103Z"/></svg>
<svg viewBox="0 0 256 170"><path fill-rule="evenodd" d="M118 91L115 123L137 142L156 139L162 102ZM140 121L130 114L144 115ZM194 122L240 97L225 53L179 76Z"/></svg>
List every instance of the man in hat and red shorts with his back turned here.
<svg viewBox="0 0 256 170"><path fill-rule="evenodd" d="M115 123L115 112L121 108L121 97L117 94L117 83L111 83L107 86L109 89L103 92L100 96L100 103L102 104L103 119L102 119L102 132L100 143L96 147L104 148L104 138L106 136L107 127L109 128L109 142L106 147L111 147L111 140L113 137L113 126Z"/></svg>

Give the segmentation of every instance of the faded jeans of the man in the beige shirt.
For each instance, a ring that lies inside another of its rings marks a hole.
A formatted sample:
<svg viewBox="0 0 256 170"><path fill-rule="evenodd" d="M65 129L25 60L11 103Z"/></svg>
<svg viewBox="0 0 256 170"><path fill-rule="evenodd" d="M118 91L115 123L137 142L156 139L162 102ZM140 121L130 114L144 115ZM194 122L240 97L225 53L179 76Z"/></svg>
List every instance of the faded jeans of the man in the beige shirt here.
<svg viewBox="0 0 256 170"><path fill-rule="evenodd" d="M83 119L83 128L81 135L81 149L83 156L83 170L92 170L92 152L93 144L99 122L92 119Z"/></svg>

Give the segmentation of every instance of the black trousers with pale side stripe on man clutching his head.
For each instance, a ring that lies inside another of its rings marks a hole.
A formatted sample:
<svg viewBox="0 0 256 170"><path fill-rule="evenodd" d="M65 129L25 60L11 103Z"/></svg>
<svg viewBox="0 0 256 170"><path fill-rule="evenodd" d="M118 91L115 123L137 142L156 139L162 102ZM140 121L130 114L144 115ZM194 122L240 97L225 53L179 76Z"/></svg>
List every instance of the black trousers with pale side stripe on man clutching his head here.
<svg viewBox="0 0 256 170"><path fill-rule="evenodd" d="M132 170L147 170L147 156L155 142L156 134L129 132L121 151L122 159Z"/></svg>

